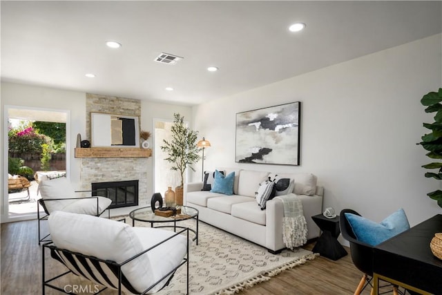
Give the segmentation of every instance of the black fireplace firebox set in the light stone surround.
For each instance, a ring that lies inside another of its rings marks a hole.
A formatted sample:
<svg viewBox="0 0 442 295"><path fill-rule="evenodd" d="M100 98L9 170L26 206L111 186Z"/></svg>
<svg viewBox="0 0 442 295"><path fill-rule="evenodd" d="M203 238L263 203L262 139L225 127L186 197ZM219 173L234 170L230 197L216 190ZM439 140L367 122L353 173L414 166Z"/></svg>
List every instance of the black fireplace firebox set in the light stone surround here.
<svg viewBox="0 0 442 295"><path fill-rule="evenodd" d="M138 180L93 182L93 196L112 200L109 209L138 205Z"/></svg>

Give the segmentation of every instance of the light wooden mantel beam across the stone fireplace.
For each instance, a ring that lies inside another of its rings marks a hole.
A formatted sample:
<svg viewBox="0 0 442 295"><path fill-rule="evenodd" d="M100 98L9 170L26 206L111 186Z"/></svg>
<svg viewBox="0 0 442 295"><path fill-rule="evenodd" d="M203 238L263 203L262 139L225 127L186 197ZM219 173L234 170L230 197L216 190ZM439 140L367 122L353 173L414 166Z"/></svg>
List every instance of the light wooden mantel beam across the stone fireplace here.
<svg viewBox="0 0 442 295"><path fill-rule="evenodd" d="M75 158L148 158L151 149L139 148L75 148Z"/></svg>

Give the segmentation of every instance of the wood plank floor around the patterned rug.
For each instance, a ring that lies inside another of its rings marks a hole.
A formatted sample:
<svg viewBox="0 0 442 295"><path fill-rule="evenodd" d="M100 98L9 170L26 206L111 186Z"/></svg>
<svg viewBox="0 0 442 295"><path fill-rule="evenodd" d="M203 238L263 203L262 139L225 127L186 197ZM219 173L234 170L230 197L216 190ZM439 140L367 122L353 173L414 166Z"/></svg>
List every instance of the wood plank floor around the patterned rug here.
<svg viewBox="0 0 442 295"><path fill-rule="evenodd" d="M314 243L305 246L310 250L313 247ZM46 260L52 260L49 254ZM49 275L64 269L59 263L51 262L48 265L50 267L46 269L46 274ZM265 283L244 289L239 294L353 294L361 276L349 255L337 261L318 257L300 267L285 270ZM66 280L66 284L73 284L72 279ZM86 285L84 280L81 284ZM37 244L37 220L1 224L0 294L41 294L41 246ZM46 294L59 293L47 290ZM117 292L108 290L102 294ZM368 295L369 291L366 289L363 294Z"/></svg>

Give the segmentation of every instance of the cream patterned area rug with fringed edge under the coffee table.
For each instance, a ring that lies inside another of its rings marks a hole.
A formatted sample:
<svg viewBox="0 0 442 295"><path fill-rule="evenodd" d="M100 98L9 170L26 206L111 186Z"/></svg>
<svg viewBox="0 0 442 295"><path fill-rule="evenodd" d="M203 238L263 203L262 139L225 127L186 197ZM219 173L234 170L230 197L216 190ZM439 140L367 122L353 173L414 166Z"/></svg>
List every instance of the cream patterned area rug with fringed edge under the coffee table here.
<svg viewBox="0 0 442 295"><path fill-rule="evenodd" d="M126 222L132 222L126 218ZM194 228L195 220L181 222L180 226ZM146 226L147 222L136 222ZM285 269L313 260L318 254L297 248L271 254L264 247L233 236L204 222L199 223L198 246L191 245L189 258L189 293L204 295L234 294L241 289L269 280ZM157 294L186 293L186 268L175 273L169 286Z"/></svg>

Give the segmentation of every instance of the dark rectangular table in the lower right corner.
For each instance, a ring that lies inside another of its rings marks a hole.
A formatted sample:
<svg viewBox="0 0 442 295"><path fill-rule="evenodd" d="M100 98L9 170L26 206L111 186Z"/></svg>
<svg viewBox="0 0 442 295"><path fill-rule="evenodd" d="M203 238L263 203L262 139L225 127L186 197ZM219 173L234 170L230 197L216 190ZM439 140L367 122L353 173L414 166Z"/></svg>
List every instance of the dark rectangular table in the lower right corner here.
<svg viewBox="0 0 442 295"><path fill-rule="evenodd" d="M379 279L419 294L442 294L442 260L430 249L438 232L442 232L441 214L374 247L374 294Z"/></svg>

